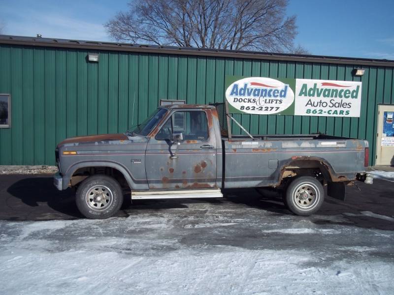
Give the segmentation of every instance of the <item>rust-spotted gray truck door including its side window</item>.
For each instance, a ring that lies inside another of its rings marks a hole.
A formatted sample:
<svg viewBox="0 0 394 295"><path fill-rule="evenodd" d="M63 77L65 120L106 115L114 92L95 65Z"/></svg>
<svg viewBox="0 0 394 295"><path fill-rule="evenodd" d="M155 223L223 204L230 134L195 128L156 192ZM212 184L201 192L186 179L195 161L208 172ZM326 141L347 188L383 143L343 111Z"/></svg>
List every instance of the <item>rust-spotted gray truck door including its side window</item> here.
<svg viewBox="0 0 394 295"><path fill-rule="evenodd" d="M210 109L174 110L150 138L145 155L150 189L216 187L216 138L208 118L212 121ZM182 132L179 145L172 140L174 132Z"/></svg>

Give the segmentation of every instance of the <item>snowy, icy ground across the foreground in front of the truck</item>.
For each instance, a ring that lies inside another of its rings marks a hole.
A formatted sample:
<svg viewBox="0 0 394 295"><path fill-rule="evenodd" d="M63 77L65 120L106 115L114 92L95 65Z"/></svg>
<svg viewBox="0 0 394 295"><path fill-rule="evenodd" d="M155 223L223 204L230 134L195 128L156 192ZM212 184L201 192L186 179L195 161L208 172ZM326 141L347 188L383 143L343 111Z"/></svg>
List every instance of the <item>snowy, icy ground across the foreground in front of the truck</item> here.
<svg viewBox="0 0 394 295"><path fill-rule="evenodd" d="M172 202L127 218L0 221L1 293L393 294L392 231Z"/></svg>

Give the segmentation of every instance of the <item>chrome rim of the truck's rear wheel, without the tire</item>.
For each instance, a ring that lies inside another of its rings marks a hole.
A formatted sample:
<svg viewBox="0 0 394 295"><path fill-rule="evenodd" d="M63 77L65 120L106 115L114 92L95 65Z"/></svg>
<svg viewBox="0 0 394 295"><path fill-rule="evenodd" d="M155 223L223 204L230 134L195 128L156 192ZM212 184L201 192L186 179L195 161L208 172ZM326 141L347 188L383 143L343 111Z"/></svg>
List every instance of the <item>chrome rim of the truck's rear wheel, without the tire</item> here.
<svg viewBox="0 0 394 295"><path fill-rule="evenodd" d="M301 210L313 209L320 198L319 189L312 182L303 182L293 191L293 201Z"/></svg>

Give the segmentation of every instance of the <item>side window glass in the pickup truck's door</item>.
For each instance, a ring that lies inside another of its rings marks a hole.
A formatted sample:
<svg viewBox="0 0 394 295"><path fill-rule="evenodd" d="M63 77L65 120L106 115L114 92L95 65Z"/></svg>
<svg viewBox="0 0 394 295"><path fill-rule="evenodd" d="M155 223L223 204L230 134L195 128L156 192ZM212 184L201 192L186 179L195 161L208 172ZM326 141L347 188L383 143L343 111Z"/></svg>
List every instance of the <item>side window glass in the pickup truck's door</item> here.
<svg viewBox="0 0 394 295"><path fill-rule="evenodd" d="M184 140L207 140L208 123L205 112L175 112L164 123L156 139L171 140L173 132L182 132Z"/></svg>

